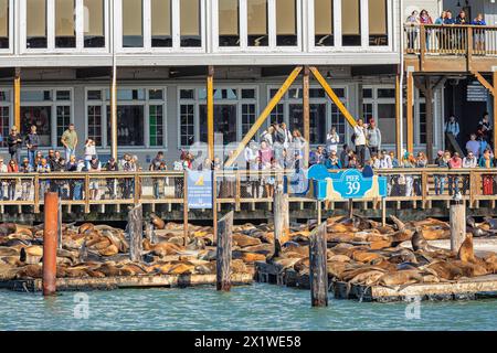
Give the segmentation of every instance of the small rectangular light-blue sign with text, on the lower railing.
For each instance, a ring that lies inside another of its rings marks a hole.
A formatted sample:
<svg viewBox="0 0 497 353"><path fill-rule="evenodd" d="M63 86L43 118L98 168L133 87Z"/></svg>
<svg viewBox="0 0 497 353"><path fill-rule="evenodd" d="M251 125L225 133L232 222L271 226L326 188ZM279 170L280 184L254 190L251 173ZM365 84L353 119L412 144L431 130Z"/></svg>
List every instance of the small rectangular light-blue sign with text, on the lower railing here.
<svg viewBox="0 0 497 353"><path fill-rule="evenodd" d="M188 182L188 207L191 210L212 208L212 171L189 171Z"/></svg>

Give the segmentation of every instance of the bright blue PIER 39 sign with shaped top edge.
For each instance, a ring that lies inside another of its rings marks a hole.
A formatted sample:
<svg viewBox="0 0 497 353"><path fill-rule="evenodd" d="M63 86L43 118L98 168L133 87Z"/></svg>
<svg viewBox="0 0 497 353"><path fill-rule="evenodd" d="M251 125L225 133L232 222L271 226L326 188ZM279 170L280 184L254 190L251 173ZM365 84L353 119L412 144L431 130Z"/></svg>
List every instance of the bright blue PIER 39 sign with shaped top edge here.
<svg viewBox="0 0 497 353"><path fill-rule="evenodd" d="M339 201L387 196L387 178L377 175L364 178L357 169L325 173L322 167L316 165L309 170L309 178L314 180L314 195L318 200Z"/></svg>

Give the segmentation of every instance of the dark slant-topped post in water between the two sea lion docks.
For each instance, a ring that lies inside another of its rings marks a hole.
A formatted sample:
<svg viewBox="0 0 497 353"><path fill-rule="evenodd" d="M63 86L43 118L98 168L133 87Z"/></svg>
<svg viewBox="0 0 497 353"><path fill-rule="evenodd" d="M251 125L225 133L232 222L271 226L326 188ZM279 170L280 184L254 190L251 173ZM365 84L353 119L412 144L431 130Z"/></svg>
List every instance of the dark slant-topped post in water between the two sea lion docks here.
<svg viewBox="0 0 497 353"><path fill-rule="evenodd" d="M231 289L231 257L232 257L233 211L218 222L216 252L216 288L222 291Z"/></svg>

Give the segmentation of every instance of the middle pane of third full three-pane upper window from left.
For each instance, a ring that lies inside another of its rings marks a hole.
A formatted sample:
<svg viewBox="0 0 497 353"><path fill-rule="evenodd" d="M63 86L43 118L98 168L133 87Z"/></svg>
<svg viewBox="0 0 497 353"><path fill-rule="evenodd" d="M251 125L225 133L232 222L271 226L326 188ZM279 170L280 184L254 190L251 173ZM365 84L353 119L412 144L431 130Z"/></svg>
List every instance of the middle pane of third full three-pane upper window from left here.
<svg viewBox="0 0 497 353"><path fill-rule="evenodd" d="M267 0L247 0L248 46L269 44L267 22Z"/></svg>

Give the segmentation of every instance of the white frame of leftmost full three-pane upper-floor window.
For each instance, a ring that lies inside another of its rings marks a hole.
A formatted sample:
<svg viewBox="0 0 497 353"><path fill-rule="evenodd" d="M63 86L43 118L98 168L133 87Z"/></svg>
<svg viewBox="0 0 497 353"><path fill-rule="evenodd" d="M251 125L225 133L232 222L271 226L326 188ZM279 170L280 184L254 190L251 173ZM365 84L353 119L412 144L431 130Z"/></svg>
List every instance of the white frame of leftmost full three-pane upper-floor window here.
<svg viewBox="0 0 497 353"><path fill-rule="evenodd" d="M20 9L20 52L21 54L81 54L81 53L108 53L109 52L109 1L104 0L104 38L105 46L103 47L85 47L84 40L84 1L75 0L75 30L76 30L76 46L75 47L55 47L55 0L46 0L46 47L27 47L27 0L21 0Z"/></svg>

